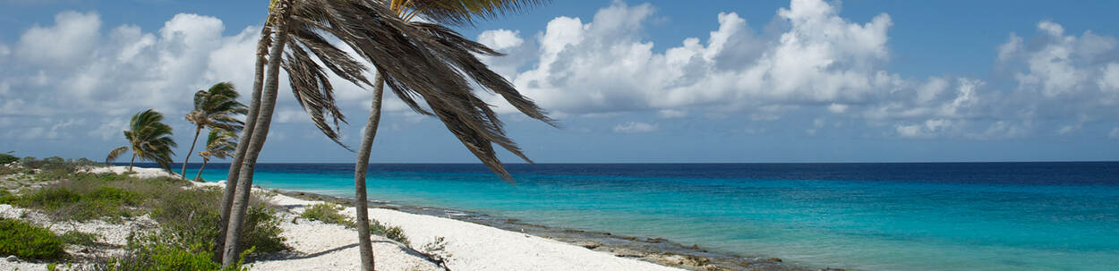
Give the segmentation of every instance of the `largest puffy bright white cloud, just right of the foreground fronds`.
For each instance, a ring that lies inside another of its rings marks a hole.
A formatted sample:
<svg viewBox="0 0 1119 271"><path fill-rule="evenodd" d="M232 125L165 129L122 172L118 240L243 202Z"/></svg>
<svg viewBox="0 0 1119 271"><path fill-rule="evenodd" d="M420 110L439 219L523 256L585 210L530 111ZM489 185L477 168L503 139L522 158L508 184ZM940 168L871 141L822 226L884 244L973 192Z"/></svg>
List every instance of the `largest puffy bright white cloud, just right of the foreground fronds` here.
<svg viewBox="0 0 1119 271"><path fill-rule="evenodd" d="M591 21L556 18L538 35L535 67L507 75L545 108L568 113L861 102L900 81L881 69L888 59L887 15L850 22L827 2L796 0L778 11L790 28L775 38L722 12L706 40L653 52L642 40L653 12L648 3L615 1ZM509 35L487 31L479 39Z"/></svg>

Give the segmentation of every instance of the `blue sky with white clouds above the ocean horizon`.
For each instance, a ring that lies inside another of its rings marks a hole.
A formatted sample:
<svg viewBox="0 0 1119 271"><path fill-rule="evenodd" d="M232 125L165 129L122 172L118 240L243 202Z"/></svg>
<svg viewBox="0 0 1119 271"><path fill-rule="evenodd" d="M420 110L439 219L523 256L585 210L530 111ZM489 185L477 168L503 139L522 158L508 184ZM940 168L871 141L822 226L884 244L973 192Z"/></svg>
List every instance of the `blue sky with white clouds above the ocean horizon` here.
<svg viewBox="0 0 1119 271"><path fill-rule="evenodd" d="M0 0L0 151L100 160L126 143L129 116L154 109L186 153L195 91L228 81L247 96L266 4ZM455 29L506 53L483 59L560 121L479 91L536 162L1084 161L1119 160L1113 10L587 0ZM352 161L285 77L261 161ZM335 78L357 147L370 92ZM370 161L476 160L388 94Z"/></svg>

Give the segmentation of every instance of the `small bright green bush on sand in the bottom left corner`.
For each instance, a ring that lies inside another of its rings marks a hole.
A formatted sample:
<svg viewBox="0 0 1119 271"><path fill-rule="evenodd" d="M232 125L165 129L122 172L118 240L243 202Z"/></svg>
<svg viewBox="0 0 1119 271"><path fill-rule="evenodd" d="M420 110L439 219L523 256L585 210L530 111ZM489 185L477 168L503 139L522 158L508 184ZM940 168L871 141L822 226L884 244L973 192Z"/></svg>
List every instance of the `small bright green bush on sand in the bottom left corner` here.
<svg viewBox="0 0 1119 271"><path fill-rule="evenodd" d="M55 260L66 256L63 242L47 228L18 219L0 218L0 254L20 259Z"/></svg>

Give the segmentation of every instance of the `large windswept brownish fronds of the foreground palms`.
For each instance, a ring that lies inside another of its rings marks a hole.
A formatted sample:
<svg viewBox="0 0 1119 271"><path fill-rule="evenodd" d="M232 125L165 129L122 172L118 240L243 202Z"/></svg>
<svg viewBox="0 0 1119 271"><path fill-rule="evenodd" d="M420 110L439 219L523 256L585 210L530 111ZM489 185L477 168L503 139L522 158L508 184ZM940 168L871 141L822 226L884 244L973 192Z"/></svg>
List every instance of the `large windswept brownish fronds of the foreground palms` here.
<svg viewBox="0 0 1119 271"><path fill-rule="evenodd" d="M497 113L472 92L472 86L501 95L529 118L553 125L554 121L505 77L476 57L476 54L502 54L448 27L405 21L401 15L412 17L420 13L430 21L470 22L473 18L515 11L543 1L408 0L405 2L412 8L395 11L391 9L394 2L399 1L386 6L372 0L304 0L294 1L288 15L280 15L288 18L283 21L291 39L283 68L289 74L297 101L307 109L320 130L338 142L337 129L331 129L325 116L332 116L335 125L345 119L335 105L327 74L311 55L347 81L373 85L363 74L367 69L360 63L320 35L328 34L372 63L377 75L411 109L439 118L482 163L506 180L511 180L492 144L526 161L532 160L506 137Z"/></svg>

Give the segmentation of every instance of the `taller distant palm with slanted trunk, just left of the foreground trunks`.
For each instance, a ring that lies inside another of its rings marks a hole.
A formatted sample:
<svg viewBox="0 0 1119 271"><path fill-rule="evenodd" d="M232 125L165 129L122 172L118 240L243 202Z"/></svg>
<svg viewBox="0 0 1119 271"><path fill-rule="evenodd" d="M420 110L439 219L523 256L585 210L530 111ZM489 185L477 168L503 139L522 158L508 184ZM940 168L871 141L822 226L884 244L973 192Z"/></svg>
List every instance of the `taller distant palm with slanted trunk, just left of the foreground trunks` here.
<svg viewBox="0 0 1119 271"><path fill-rule="evenodd" d="M195 152L195 143L198 142L198 133L203 128L219 129L225 131L241 131L245 125L237 120L238 114L245 114L248 109L245 104L237 102L237 90L229 82L217 83L210 86L209 91L198 91L195 93L195 110L187 114L187 121L195 124L195 139L190 141L190 150L182 159L182 170L180 175L187 178L187 162L190 155Z"/></svg>

